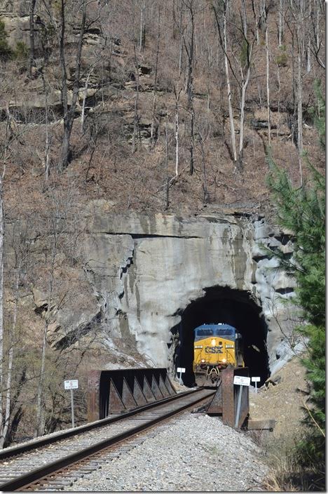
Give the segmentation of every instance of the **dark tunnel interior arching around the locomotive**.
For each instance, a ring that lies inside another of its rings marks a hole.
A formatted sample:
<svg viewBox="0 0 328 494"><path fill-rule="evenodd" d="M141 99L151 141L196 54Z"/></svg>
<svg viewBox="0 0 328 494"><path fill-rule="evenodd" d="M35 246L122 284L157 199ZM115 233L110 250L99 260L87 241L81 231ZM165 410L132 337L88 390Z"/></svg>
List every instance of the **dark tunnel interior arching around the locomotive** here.
<svg viewBox="0 0 328 494"><path fill-rule="evenodd" d="M195 385L193 330L204 323L227 323L237 329L242 335L245 366L250 369L251 377L261 378L258 385L263 385L270 374L266 351L268 328L261 316L261 308L249 293L225 287L207 288L203 298L191 302L179 315L181 322L171 331L179 337L179 345L175 349L175 368L186 368L186 373L182 374L184 385Z"/></svg>

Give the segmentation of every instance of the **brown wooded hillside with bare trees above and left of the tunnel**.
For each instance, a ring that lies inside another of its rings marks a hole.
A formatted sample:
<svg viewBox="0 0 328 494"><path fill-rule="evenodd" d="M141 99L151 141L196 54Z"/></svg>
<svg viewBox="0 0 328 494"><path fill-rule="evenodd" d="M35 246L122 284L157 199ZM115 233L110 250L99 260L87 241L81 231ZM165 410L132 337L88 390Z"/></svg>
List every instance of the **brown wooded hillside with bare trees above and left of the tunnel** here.
<svg viewBox="0 0 328 494"><path fill-rule="evenodd" d="M51 347L57 309L95 298L88 202L270 214L268 147L293 185L305 153L323 172L324 25L320 0L0 0L1 446L69 423L64 376L108 361L81 321Z"/></svg>

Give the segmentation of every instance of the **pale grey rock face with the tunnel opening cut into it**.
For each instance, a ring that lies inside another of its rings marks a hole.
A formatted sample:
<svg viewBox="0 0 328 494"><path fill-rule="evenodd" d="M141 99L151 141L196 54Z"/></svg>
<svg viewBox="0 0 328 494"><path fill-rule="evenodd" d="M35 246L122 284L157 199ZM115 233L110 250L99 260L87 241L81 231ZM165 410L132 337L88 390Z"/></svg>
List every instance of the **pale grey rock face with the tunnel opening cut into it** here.
<svg viewBox="0 0 328 494"><path fill-rule="evenodd" d="M90 203L81 244L100 305L95 314L102 314L109 338L128 338L149 365L173 370L183 353L191 354L198 323L237 321L268 370L277 368L292 331L283 301L293 296L294 282L271 269L275 261L261 245L283 244L292 253L287 234L261 215L179 218L112 208L106 201ZM248 365L255 358L249 352Z"/></svg>

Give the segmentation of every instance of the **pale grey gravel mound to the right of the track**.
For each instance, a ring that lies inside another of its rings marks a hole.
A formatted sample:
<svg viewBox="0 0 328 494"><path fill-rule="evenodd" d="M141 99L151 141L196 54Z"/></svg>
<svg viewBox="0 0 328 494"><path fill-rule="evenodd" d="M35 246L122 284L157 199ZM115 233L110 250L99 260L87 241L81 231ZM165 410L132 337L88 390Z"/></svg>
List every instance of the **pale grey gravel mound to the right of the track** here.
<svg viewBox="0 0 328 494"><path fill-rule="evenodd" d="M65 490L265 490L261 482L268 467L259 448L218 418L186 413L144 437L143 443L121 448L118 458L103 462L101 469Z"/></svg>

